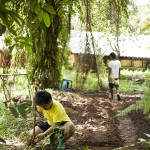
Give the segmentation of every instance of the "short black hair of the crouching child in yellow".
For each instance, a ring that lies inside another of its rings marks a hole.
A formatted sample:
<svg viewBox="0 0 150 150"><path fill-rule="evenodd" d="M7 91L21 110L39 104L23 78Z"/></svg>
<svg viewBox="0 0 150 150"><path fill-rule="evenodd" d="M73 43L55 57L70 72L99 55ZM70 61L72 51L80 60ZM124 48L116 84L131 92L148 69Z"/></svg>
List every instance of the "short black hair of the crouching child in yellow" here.
<svg viewBox="0 0 150 150"><path fill-rule="evenodd" d="M35 105L49 104L49 102L52 101L52 96L47 91L40 91L36 93L34 100Z"/></svg>

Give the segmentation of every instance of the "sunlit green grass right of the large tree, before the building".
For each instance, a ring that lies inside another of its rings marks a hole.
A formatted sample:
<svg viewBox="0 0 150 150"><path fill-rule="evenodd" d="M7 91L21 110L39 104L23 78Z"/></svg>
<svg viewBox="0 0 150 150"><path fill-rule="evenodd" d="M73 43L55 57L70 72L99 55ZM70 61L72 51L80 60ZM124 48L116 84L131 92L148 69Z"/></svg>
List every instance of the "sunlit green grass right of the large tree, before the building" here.
<svg viewBox="0 0 150 150"><path fill-rule="evenodd" d="M73 82L73 88L77 89L80 85L76 85L76 72L75 70L63 70L62 72L64 79L72 80ZM129 91L145 91L147 89L144 84L132 81L132 76L143 76L145 75L148 77L150 72L147 70L145 72L142 71L129 71L129 70L122 70L121 71L121 79L120 79L120 92L129 92ZM108 78L107 78L107 72L104 72L103 75L101 75L101 80L103 81L103 84L105 87L108 88ZM87 81L84 85L83 90L90 90L90 91L98 91L100 90L98 86L98 79L96 73L89 73L87 77Z"/></svg>

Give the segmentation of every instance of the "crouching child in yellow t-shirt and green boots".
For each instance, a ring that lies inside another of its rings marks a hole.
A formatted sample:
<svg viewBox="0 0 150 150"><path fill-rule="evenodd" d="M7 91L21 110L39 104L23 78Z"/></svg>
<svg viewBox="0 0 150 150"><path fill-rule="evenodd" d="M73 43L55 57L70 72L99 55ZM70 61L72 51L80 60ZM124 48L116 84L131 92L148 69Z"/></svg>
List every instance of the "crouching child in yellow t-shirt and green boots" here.
<svg viewBox="0 0 150 150"><path fill-rule="evenodd" d="M75 127L65 112L64 107L58 101L52 100L51 94L47 91L40 91L35 95L37 111L42 113L47 122L35 127L35 139L29 143L37 143L45 136L50 135L50 143L54 145L58 140L58 129L62 129L62 136L59 139L57 149L64 149L66 141L74 134ZM60 130L61 130L60 129ZM30 139L33 139L33 129L30 131Z"/></svg>

